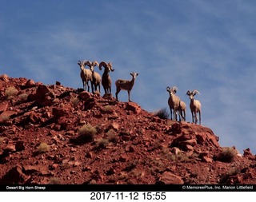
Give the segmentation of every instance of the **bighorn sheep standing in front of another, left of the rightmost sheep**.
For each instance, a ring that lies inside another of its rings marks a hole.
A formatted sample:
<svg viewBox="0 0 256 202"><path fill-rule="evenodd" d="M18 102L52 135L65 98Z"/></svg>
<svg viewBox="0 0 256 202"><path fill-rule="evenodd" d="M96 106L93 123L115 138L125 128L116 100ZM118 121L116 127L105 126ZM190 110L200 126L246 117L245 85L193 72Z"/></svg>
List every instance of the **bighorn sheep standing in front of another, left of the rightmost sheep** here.
<svg viewBox="0 0 256 202"><path fill-rule="evenodd" d="M180 105L180 99L177 95L175 95L175 93L177 92L177 87L174 86L170 89L169 86L166 87L166 91L169 92L169 99L168 99L168 105L170 107L170 119L173 121L177 121L177 111L178 111L178 107ZM172 114L174 113L174 119Z"/></svg>

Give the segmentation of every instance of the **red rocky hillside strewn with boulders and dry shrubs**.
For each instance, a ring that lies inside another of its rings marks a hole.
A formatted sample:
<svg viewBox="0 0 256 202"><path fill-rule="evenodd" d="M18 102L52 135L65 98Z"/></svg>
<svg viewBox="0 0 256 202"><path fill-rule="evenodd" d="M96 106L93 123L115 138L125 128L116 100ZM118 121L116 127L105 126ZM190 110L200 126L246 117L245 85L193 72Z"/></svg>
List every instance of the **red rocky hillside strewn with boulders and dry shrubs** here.
<svg viewBox="0 0 256 202"><path fill-rule="evenodd" d="M256 184L250 149L133 102L0 76L0 184Z"/></svg>

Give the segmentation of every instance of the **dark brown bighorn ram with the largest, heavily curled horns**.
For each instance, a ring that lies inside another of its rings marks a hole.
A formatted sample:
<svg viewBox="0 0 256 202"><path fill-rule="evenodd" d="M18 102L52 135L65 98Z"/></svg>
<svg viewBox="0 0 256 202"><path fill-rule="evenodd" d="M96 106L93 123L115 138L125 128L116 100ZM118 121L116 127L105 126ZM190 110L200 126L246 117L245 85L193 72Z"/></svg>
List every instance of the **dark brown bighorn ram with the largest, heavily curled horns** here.
<svg viewBox="0 0 256 202"><path fill-rule="evenodd" d="M105 94L111 93L112 80L110 77L110 71L114 72L114 69L110 62L106 63L105 61L102 61L99 63L98 69L102 70L102 66L105 68L104 73L102 74L102 86L104 88Z"/></svg>

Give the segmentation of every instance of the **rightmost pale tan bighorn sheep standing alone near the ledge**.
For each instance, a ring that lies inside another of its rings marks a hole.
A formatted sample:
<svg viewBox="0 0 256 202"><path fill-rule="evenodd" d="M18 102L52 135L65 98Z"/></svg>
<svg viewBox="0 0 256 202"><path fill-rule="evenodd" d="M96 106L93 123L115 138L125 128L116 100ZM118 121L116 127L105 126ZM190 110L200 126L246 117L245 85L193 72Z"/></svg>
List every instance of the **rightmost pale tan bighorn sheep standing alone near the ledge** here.
<svg viewBox="0 0 256 202"><path fill-rule="evenodd" d="M195 94L200 93L198 90L194 89L192 92L188 90L186 94L190 97L190 110L192 113L192 122L197 124L198 123L198 116L197 113L199 113L199 125L201 125L201 103L198 100L194 100Z"/></svg>

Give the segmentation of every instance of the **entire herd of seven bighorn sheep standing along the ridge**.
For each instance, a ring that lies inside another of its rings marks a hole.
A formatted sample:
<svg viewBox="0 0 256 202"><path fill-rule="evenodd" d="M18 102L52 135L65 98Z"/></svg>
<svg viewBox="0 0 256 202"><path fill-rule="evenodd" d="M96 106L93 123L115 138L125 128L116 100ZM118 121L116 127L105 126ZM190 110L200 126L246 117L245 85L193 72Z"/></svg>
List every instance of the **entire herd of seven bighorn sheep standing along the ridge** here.
<svg viewBox="0 0 256 202"><path fill-rule="evenodd" d="M101 92L101 84L104 88L105 93L111 93L111 85L112 80L110 77L110 71L114 72L111 62L106 63L105 61L78 61L78 65L80 66L81 73L80 77L82 78L82 86L83 89L86 91L90 91L94 93L98 91ZM104 73L102 76L94 71L94 67L98 66L98 69L102 70L104 67ZM86 69L86 66L89 66L89 69ZM115 81L116 85L116 93L115 97L118 101L118 93L121 89L126 90L128 92L128 101L130 101L130 91L133 89L134 81L138 76L138 73L130 73L132 76L131 80L123 80L118 79ZM90 85L89 85L90 82ZM168 105L170 107L170 119L173 121L178 121L177 116L179 116L179 121L186 121L186 103L181 101L180 98L176 95L178 88L176 86L170 88L169 86L166 87L167 92L169 92L169 99ZM201 103L198 100L194 99L196 94L200 94L198 90L194 89L193 91L188 90L186 95L190 97L190 110L192 114L192 122L197 124L198 123L198 116L199 114L199 124L201 125Z"/></svg>

